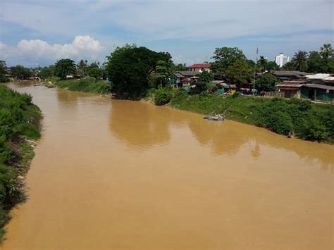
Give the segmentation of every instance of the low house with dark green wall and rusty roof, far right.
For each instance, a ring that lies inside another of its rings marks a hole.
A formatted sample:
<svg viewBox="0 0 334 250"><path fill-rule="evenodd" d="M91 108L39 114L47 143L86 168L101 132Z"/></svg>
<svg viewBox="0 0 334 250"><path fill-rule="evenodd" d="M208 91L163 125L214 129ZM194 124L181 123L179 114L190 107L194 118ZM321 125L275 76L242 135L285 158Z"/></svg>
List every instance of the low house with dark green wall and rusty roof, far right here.
<svg viewBox="0 0 334 250"><path fill-rule="evenodd" d="M334 80L294 80L284 81L276 85L285 98L302 98L314 101L333 101Z"/></svg>

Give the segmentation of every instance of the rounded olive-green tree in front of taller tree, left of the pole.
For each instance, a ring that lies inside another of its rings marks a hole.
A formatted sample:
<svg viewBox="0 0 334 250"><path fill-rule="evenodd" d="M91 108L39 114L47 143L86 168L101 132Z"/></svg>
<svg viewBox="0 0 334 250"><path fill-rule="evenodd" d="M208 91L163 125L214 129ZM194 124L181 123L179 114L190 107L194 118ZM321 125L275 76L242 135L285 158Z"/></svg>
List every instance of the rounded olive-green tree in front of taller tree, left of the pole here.
<svg viewBox="0 0 334 250"><path fill-rule="evenodd" d="M225 71L225 78L232 84L237 85L238 88L242 85L252 82L254 72L246 61L235 61Z"/></svg>

